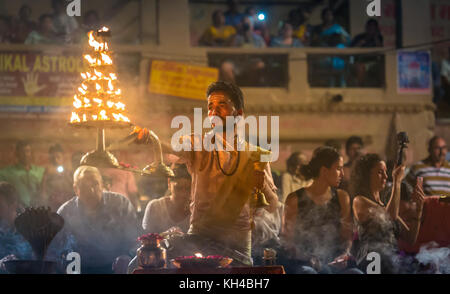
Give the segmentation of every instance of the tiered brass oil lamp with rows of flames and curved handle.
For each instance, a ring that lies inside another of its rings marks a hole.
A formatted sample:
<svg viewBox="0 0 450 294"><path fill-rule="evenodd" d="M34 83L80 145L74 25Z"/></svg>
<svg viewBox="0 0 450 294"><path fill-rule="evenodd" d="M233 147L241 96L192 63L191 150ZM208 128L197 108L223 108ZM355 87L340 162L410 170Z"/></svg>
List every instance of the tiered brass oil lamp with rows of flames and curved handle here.
<svg viewBox="0 0 450 294"><path fill-rule="evenodd" d="M122 91L118 88L118 77L114 71L111 51L107 38L111 37L111 31L102 29L88 33L89 52L84 59L88 62L88 69L81 73L83 81L78 87L78 93L74 95L73 111L70 125L76 127L97 129L97 148L85 154L80 164L100 168L120 168L140 174L161 177L173 177L173 171L164 165L162 160L161 144L155 134L151 134L153 151L156 160L143 170L121 166L114 155L105 148L105 129L130 128L132 126L127 116L125 104L122 102ZM125 140L133 140L128 136ZM111 148L109 148L111 149Z"/></svg>

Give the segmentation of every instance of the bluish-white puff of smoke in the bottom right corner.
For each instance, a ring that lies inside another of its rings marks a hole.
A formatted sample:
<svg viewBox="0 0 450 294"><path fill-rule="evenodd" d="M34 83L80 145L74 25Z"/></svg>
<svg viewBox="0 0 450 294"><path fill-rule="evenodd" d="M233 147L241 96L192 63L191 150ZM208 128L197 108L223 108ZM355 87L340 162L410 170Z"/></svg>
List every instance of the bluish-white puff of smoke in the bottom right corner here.
<svg viewBox="0 0 450 294"><path fill-rule="evenodd" d="M436 242L420 247L416 259L425 266L430 266L435 274L450 274L450 247L438 248Z"/></svg>

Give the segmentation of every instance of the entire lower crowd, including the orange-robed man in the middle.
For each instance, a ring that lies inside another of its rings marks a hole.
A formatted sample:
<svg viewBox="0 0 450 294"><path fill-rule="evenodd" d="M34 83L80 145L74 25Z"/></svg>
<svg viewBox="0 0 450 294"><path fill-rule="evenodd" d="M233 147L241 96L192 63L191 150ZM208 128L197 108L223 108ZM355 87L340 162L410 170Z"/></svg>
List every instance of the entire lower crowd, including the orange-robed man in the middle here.
<svg viewBox="0 0 450 294"><path fill-rule="evenodd" d="M215 82L207 97L209 116L243 115L244 98L236 85ZM126 175L78 166L78 156L66 170L59 145L49 150L51 166L38 167L32 164L31 144L19 142L17 164L0 170L0 271L6 260L31 256L14 219L21 207L33 205L49 205L65 220L48 258L76 251L83 257L82 273L131 272L136 238L167 232L174 236L168 256L219 254L233 258L234 266L261 265L271 248L287 273L362 274L372 252L381 256L381 273L448 270L449 256L432 265L421 259L428 252L422 245L433 241L434 249L448 249L450 244L445 214L450 163L443 138L431 138L429 156L408 168L365 154L357 136L345 144L345 163L339 143L330 141L311 158L294 152L278 177L269 164L255 168L255 158L270 151L256 146L250 151L248 142L241 142L244 151L194 151L196 142L218 141L229 150L227 131L213 127L225 134L213 130L184 137L192 151L174 151L162 142L165 153L179 158L175 176L166 182L168 193L148 202L143 215L133 200L138 189L128 185ZM136 143L148 144L147 129L135 132ZM266 206L250 201L255 189L265 195Z"/></svg>

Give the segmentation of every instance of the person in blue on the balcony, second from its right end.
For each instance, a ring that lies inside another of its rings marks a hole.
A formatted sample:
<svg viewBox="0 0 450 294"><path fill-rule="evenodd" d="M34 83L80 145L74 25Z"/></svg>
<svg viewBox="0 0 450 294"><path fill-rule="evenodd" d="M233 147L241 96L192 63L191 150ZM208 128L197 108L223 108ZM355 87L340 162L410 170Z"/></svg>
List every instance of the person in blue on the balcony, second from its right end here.
<svg viewBox="0 0 450 294"><path fill-rule="evenodd" d="M350 43L350 35L335 22L331 8L322 10L322 24L313 30L312 45L319 47L344 48Z"/></svg>

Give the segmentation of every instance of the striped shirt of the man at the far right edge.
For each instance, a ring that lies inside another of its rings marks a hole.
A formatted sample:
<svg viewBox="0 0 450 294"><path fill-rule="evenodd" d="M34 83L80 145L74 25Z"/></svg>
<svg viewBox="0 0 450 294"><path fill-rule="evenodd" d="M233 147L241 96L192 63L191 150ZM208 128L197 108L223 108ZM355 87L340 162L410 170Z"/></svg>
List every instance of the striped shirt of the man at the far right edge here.
<svg viewBox="0 0 450 294"><path fill-rule="evenodd" d="M417 177L423 178L425 195L450 196L450 163L445 161L441 167L435 167L425 159L411 167L407 181L414 187Z"/></svg>

